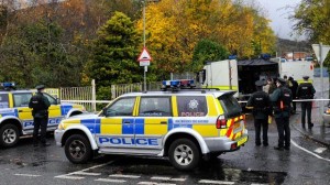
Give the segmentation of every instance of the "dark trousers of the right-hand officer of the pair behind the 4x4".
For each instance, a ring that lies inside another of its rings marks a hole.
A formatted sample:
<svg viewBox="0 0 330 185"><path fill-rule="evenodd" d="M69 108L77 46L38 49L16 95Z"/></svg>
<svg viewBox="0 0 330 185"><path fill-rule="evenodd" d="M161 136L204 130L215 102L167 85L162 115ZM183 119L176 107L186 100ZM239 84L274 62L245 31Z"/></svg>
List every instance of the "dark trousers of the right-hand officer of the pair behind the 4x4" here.
<svg viewBox="0 0 330 185"><path fill-rule="evenodd" d="M275 118L278 131L278 148L290 146L289 117Z"/></svg>

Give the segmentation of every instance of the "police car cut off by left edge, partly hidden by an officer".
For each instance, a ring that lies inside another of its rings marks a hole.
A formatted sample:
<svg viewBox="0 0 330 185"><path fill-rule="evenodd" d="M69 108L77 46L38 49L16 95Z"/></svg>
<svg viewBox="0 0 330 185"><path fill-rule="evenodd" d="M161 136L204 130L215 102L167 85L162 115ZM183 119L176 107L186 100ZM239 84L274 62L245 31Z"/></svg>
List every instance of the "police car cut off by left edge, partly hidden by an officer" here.
<svg viewBox="0 0 330 185"><path fill-rule="evenodd" d="M14 83L0 83L0 145L13 146L19 138L33 133L32 109L29 108L30 98L35 90L15 90ZM58 99L44 92L48 98L48 128L54 131L64 117L85 111L85 107L73 104L61 104Z"/></svg>

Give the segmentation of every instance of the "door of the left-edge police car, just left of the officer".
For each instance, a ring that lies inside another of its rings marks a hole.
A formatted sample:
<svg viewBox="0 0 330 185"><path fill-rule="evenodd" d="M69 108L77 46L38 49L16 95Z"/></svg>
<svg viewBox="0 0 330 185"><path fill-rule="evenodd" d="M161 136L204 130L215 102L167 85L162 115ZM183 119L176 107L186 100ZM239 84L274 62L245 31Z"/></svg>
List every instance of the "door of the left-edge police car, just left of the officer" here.
<svg viewBox="0 0 330 185"><path fill-rule="evenodd" d="M13 108L16 109L18 117L22 121L22 127L25 132L33 131L32 109L29 108L31 97L31 91L12 94Z"/></svg>

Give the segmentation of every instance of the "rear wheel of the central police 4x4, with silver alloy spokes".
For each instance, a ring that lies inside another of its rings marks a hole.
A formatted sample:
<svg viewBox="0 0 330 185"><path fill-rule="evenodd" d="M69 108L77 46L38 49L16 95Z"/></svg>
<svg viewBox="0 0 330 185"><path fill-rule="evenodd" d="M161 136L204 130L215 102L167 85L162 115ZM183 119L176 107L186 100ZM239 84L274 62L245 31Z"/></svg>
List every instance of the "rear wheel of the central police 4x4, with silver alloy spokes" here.
<svg viewBox="0 0 330 185"><path fill-rule="evenodd" d="M174 167L182 171L190 171L198 165L200 152L193 141L178 139L170 144L168 157Z"/></svg>

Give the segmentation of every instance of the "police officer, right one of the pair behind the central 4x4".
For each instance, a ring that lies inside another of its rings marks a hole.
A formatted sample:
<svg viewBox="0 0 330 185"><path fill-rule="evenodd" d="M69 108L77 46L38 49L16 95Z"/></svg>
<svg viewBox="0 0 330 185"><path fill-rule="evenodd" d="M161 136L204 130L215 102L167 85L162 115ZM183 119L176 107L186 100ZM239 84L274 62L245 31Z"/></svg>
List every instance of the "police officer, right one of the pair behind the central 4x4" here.
<svg viewBox="0 0 330 185"><path fill-rule="evenodd" d="M277 88L271 95L271 101L273 104L275 121L278 131L278 145L275 150L283 151L290 149L290 128L289 117L293 101L292 90L285 86L286 81L283 78L277 78Z"/></svg>

